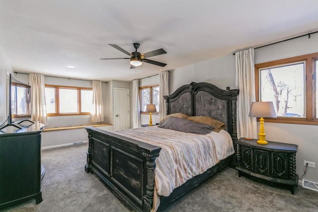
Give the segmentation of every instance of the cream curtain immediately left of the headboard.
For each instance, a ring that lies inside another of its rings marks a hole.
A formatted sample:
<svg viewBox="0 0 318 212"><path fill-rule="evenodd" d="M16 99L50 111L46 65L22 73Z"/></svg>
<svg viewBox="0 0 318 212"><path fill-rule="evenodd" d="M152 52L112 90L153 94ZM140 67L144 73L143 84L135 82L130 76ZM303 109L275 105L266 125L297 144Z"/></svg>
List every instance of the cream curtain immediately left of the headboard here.
<svg viewBox="0 0 318 212"><path fill-rule="evenodd" d="M160 122L167 114L167 107L163 96L169 95L169 71L159 73L159 118Z"/></svg>

